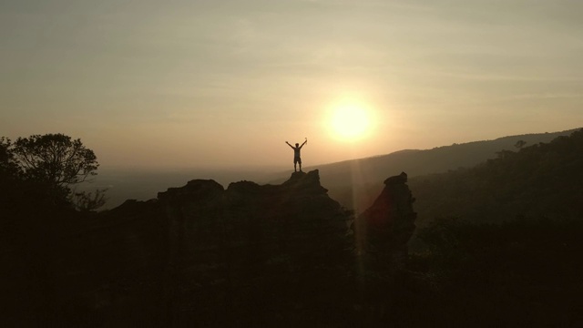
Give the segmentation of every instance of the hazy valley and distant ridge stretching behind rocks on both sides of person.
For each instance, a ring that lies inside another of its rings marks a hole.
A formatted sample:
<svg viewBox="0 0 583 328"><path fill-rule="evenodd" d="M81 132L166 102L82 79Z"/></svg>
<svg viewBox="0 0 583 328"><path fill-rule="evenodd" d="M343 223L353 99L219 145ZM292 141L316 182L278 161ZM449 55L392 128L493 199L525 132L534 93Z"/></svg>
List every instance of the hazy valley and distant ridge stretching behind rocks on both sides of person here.
<svg viewBox="0 0 583 328"><path fill-rule="evenodd" d="M329 190L334 200L347 209L365 209L370 206L382 181L405 171L410 178L450 169L470 168L486 159L496 158L501 150L517 150L518 140L526 146L549 142L558 136L567 136L575 130L536 133L472 141L435 149L408 149L366 159L351 159L317 166L307 165L304 170L319 169L322 186ZM309 158L304 159L309 163ZM291 167L291 165L290 165ZM159 191L180 187L191 179L214 179L227 187L231 182L251 180L258 183L281 183L288 178L290 169L283 167L247 169L110 169L100 168L94 182L79 186L80 190L107 189L107 204L112 209L125 200L149 200Z"/></svg>

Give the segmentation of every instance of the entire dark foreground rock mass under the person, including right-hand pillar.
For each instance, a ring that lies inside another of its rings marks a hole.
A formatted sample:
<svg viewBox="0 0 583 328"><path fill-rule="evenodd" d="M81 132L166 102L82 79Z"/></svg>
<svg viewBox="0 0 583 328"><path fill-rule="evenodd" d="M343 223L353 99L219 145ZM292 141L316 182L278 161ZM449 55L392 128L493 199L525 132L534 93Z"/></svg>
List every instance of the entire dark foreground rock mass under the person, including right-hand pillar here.
<svg viewBox="0 0 583 328"><path fill-rule="evenodd" d="M386 302L372 291L391 293L414 229L410 191L401 178L387 181L356 220L328 196L317 170L281 185L240 181L226 190L195 179L157 200L70 213L58 220L62 229L35 241L51 246L32 260L36 273L14 278L15 286L34 286L25 291L34 304L7 307L21 311L13 323L77 326L376 320ZM11 244L6 254L35 247Z"/></svg>

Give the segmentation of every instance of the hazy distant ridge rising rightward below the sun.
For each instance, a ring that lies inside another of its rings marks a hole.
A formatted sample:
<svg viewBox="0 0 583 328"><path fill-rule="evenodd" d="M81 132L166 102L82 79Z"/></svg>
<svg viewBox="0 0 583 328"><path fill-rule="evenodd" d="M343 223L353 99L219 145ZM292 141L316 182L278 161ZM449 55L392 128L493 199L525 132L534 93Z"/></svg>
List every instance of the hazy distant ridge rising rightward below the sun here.
<svg viewBox="0 0 583 328"><path fill-rule="evenodd" d="M496 152L501 150L517 150L515 145L519 140L525 141L527 147L550 142L559 136L568 136L576 130L508 136L435 149L405 149L372 158L319 165L317 169L320 170L322 186L329 190L332 199L338 200L347 209L359 211L370 206L383 189L381 182L384 179L401 171L405 171L411 178L450 169L471 168L486 159L496 158ZM274 179L277 182L281 180Z"/></svg>

